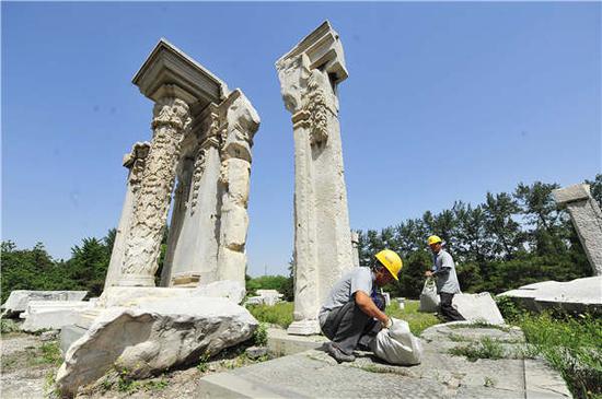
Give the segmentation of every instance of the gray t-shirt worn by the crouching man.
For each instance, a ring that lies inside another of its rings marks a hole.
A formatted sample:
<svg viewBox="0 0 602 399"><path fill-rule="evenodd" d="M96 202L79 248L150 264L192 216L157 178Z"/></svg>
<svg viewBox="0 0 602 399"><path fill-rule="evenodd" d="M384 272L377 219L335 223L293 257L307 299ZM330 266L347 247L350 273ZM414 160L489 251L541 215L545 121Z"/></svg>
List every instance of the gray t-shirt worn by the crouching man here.
<svg viewBox="0 0 602 399"><path fill-rule="evenodd" d="M367 295L372 293L374 275L370 268L359 267L347 272L340 278L326 297L326 302L320 309L317 316L322 326L328 316L328 313L337 307L340 307L354 300L354 294L358 291L363 291Z"/></svg>

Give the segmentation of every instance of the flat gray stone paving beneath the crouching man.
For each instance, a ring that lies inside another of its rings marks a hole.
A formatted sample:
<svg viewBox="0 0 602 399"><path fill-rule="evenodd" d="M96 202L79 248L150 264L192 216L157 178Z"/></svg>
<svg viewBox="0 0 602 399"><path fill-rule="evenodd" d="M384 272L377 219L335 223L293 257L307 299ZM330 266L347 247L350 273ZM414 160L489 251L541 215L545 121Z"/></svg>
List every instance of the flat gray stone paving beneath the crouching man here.
<svg viewBox="0 0 602 399"><path fill-rule="evenodd" d="M455 326L454 326L455 325ZM449 353L489 338L505 359ZM337 364L322 350L309 350L200 379L201 398L570 398L565 382L543 361L523 360L520 329L433 326L424 331L422 363L393 366L369 352Z"/></svg>

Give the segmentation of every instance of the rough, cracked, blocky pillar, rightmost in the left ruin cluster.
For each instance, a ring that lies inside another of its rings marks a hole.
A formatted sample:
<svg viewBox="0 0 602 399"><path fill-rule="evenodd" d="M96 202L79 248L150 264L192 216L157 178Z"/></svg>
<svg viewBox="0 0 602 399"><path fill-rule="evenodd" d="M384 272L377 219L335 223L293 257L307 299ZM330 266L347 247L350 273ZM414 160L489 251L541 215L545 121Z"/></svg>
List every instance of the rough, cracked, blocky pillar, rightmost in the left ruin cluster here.
<svg viewBox="0 0 602 399"><path fill-rule="evenodd" d="M218 278L239 281L244 286L251 148L259 116L240 90L234 91L223 106L227 127L221 149Z"/></svg>

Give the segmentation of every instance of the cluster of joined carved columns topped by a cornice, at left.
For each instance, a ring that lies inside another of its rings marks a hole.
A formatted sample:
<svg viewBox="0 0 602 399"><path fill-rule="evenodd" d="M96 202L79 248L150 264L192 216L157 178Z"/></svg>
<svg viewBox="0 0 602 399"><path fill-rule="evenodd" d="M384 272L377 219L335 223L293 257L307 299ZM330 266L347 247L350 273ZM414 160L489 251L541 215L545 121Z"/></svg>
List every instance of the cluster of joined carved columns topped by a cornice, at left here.
<svg viewBox="0 0 602 399"><path fill-rule="evenodd" d="M136 143L105 287L154 286L175 193L161 286L244 286L251 148L259 117L240 90L161 39L132 80L154 102Z"/></svg>

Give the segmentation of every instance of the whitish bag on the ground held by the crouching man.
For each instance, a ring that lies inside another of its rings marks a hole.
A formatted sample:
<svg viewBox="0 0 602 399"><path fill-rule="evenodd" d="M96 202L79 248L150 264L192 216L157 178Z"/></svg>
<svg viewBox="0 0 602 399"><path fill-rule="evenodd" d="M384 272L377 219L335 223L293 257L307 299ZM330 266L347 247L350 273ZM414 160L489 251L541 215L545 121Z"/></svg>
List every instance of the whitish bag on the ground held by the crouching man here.
<svg viewBox="0 0 602 399"><path fill-rule="evenodd" d="M393 319L393 326L382 329L370 342L370 349L379 359L403 366L420 364L422 344L409 331L404 320Z"/></svg>

